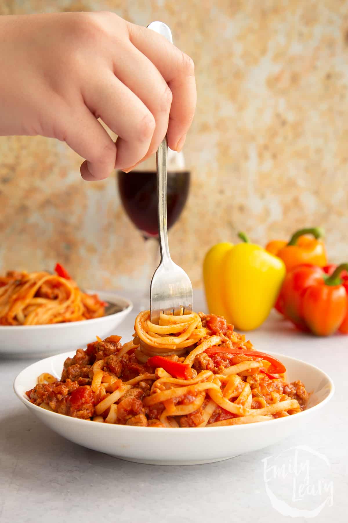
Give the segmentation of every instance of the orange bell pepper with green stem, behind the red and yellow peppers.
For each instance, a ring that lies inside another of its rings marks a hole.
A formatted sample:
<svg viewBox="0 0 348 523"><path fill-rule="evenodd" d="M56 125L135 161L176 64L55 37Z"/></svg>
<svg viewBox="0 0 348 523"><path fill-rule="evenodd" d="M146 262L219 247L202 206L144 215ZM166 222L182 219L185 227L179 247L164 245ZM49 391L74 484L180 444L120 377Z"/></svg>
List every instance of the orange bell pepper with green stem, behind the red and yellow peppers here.
<svg viewBox="0 0 348 523"><path fill-rule="evenodd" d="M306 234L312 234L309 238ZM324 267L327 264L326 249L323 241L323 230L319 227L301 229L295 232L290 242L273 240L266 245L266 251L275 254L284 261L286 270L303 264Z"/></svg>

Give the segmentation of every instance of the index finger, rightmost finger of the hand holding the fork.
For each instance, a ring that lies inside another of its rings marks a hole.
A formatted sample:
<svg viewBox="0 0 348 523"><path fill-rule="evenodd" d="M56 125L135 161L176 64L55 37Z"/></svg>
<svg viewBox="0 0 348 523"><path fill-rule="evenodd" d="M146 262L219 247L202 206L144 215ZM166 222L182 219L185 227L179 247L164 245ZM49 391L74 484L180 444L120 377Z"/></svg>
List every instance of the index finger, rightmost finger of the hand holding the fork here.
<svg viewBox="0 0 348 523"><path fill-rule="evenodd" d="M184 144L196 108L194 63L151 29L133 24L128 28L130 41L157 67L172 91L167 138L171 149L177 151Z"/></svg>

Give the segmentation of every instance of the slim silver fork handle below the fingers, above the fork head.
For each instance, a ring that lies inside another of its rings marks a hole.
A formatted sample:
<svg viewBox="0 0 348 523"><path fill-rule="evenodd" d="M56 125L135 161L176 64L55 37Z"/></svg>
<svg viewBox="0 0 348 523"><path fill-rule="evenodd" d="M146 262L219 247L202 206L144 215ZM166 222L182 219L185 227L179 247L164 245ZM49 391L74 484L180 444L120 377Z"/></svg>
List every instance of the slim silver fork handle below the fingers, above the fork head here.
<svg viewBox="0 0 348 523"><path fill-rule="evenodd" d="M157 166L157 198L158 198L158 237L161 251L161 261L171 260L167 229L167 137L164 137L156 153Z"/></svg>

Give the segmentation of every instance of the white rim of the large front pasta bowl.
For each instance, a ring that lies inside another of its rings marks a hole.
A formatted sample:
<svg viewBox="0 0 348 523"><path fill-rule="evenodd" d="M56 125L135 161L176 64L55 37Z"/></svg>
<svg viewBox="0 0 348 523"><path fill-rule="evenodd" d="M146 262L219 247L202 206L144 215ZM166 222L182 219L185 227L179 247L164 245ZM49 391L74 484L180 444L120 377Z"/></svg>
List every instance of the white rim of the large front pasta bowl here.
<svg viewBox="0 0 348 523"><path fill-rule="evenodd" d="M27 371L30 367L33 367L34 365L37 365L38 363L41 363L45 360L48 360L48 359L51 359L51 358L54 358L54 357L69 357L69 355L71 355L73 353L73 351L69 350L67 351L66 353L62 353L62 354L56 354L56 355L53 355L53 356L49 356L47 358L43 358L39 361L36 361L34 363L31 363L31 365L28 365L28 367L26 367L25 369L23 369L21 372L19 372L19 374L17 374L15 380L14 380L14 383L13 383L13 389L14 389L14 392L15 394L17 395L17 397L19 398L19 400L23 403L23 405L26 405L26 407L29 407L29 408L32 408L32 410L35 412L37 409L42 413L44 412L45 414L47 415L50 415L50 416L63 416L63 414L59 414L57 412L52 412L52 411L47 411L46 409L43 409L41 407L39 407L38 405L34 405L33 403L30 403L30 401L27 399L27 397L25 397L24 395L21 395L21 393L19 392L18 390L18 382L20 380L20 376L23 372ZM293 417L295 417L296 419L298 419L298 416L304 416L310 412L313 412L313 411L316 411L318 410L319 408L323 407L326 403L328 403L333 394L334 394L334 391L335 391L335 386L334 386L334 383L332 381L332 379L330 378L330 376L325 372L323 371L322 369L320 369L319 367L317 367L316 365L313 365L312 363L308 363L307 361L304 361L304 360L301 360L301 359L298 359L298 358L294 358L292 356L287 356L287 355L284 355L284 354L279 354L279 353L273 353L273 352L269 352L268 354L272 355L272 356L275 356L275 357L278 357L278 358L287 358L289 360L292 360L293 362L296 362L296 363L301 363L303 365L306 365L306 366L309 366L311 367L312 369L314 369L315 371L319 372L322 377L325 377L326 380L328 381L328 385L329 385L329 388L330 388L330 392L329 394L327 395L327 397L320 401L319 403L317 403L316 405L314 405L313 407L310 407L308 408L308 410L305 410L305 411L302 411L302 412L299 412L297 413L296 415L294 416L286 416L286 417L283 417L283 418L277 418L277 419L273 419L272 420L272 424L274 423L289 423L289 420L292 419ZM45 415L44 414L44 415ZM73 418L73 417L70 417L70 416L64 416L66 418L66 422L67 423L77 423L77 424L80 424L81 422L83 423L88 423L90 424L90 420L89 419L80 419L80 418ZM69 421L68 421L69 420ZM170 434L174 434L173 433L173 430L175 430L178 434L188 434L188 433L192 433L192 432L195 432L197 433L197 429L199 430L202 430L202 429L206 429L206 428L209 428L209 433L211 432L216 432L217 430L218 431L229 431L229 430L256 430L256 428L258 426L260 426L260 424L263 426L265 425L265 423L268 423L266 421L263 421L263 422L258 422L258 423L248 423L248 424L244 424L244 425L227 425L227 426L223 426L223 427L137 427L137 426L133 426L133 425L117 425L117 424L111 424L111 423L95 423L95 425L98 425L98 426L107 426L107 427L110 427L110 428L107 428L107 429L101 429L101 430L126 430L126 431L134 431L134 430L146 430L148 431L149 428L151 428L151 432L150 434L152 434L152 430L160 430L161 433L163 432L164 434L167 433L167 431L170 430ZM79 425L77 425L79 426ZM81 428L82 428L82 425L80 425ZM250 427L256 427L254 429L250 428ZM184 430L183 430L184 429ZM208 434L209 434L208 433ZM147 433L145 433L147 434Z"/></svg>

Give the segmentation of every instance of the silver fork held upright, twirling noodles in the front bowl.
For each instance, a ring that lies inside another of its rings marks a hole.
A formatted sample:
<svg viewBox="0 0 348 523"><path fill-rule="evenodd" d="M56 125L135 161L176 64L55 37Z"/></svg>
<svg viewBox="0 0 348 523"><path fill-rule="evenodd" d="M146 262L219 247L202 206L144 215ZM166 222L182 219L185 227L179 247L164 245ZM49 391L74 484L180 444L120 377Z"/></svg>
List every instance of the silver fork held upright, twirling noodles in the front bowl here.
<svg viewBox="0 0 348 523"><path fill-rule="evenodd" d="M163 22L152 22L148 29L160 33L173 43L170 28ZM150 285L151 322L159 324L160 313L189 314L193 307L192 284L186 272L171 258L167 231L167 138L164 137L156 153L158 235L161 261L154 271Z"/></svg>

